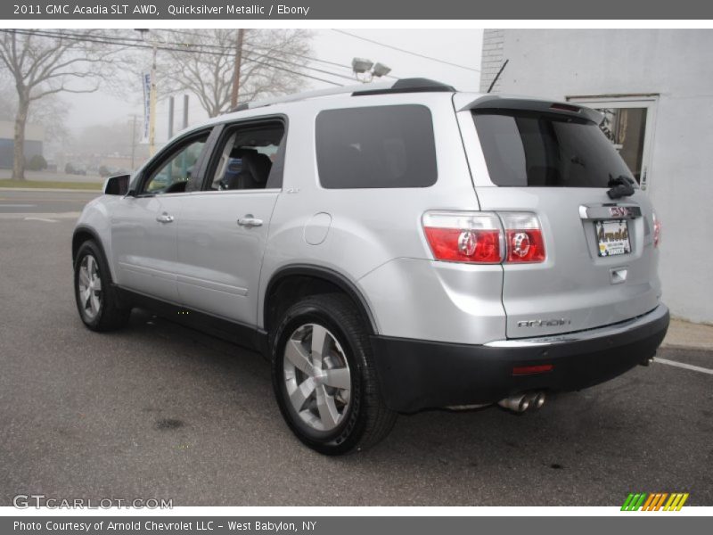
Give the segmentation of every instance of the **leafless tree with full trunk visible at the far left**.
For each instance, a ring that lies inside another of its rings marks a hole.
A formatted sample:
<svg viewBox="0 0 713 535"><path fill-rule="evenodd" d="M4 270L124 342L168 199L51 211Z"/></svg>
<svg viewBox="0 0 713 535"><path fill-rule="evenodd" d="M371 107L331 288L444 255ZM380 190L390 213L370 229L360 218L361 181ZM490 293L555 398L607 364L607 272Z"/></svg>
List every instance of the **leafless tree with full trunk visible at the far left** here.
<svg viewBox="0 0 713 535"><path fill-rule="evenodd" d="M117 47L102 42L101 30L77 30L61 37L56 30L3 30L0 65L17 91L12 178L25 179L25 127L32 103L62 92L92 93L111 70Z"/></svg>

